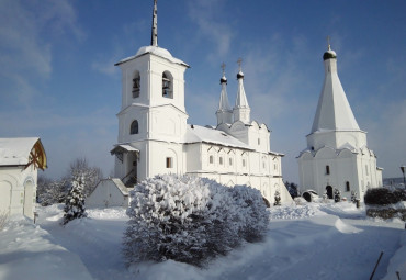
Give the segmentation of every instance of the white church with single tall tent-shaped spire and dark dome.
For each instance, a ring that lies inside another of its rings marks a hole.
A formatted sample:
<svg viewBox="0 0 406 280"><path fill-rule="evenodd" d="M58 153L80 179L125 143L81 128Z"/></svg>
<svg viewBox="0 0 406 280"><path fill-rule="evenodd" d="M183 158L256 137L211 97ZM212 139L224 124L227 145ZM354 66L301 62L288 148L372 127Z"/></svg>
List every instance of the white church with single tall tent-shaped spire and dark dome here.
<svg viewBox="0 0 406 280"><path fill-rule="evenodd" d="M337 74L337 55L328 45L323 56L325 80L307 147L297 157L301 190L332 199L334 189L363 201L369 188L382 187L382 168L366 146Z"/></svg>

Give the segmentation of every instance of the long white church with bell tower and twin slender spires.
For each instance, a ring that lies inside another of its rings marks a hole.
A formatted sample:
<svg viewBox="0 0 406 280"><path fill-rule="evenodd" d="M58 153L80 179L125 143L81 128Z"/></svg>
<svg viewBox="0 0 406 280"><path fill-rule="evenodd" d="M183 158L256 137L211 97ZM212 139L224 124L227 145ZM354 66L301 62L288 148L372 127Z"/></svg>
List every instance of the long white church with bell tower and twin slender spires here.
<svg viewBox="0 0 406 280"><path fill-rule="evenodd" d="M267 125L250 117L241 67L234 108L223 68L219 105L213 109L217 124L187 123L184 72L189 65L158 46L156 1L151 44L115 65L122 70L122 105L117 144L111 153L115 177L125 186L161 173L190 175L227 186L251 186L270 203L277 191L282 202L292 200L282 181L283 155L270 150Z"/></svg>

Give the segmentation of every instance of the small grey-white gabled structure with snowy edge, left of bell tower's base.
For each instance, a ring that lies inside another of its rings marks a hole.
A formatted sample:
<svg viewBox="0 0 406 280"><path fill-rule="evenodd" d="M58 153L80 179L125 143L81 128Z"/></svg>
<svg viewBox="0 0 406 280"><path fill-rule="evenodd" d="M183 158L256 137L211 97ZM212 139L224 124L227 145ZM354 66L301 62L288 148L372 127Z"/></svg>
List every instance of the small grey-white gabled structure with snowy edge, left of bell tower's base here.
<svg viewBox="0 0 406 280"><path fill-rule="evenodd" d="M129 204L128 189L117 179L101 180L92 193L86 199L87 208L127 208Z"/></svg>

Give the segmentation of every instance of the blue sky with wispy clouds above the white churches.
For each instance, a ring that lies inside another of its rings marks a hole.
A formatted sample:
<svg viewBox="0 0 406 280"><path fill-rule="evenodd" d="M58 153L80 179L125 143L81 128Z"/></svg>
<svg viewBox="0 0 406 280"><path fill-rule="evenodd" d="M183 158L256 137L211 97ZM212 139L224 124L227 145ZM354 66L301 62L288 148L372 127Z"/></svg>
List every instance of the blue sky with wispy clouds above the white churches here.
<svg viewBox="0 0 406 280"><path fill-rule="evenodd" d="M86 157L109 176L121 72L150 42L153 0L0 0L0 137L38 136L57 178ZM158 44L188 63L189 123L215 124L224 61L234 103L241 57L251 116L298 182L324 80L326 36L384 177L406 165L406 2L159 0Z"/></svg>

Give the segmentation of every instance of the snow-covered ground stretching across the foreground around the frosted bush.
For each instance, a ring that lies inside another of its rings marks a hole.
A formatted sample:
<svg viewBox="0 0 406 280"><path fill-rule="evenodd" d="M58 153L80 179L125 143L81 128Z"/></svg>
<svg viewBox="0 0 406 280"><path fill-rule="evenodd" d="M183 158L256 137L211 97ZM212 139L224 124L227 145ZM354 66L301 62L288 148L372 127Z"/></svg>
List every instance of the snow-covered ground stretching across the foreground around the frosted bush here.
<svg viewBox="0 0 406 280"><path fill-rule="evenodd" d="M0 232L0 279L406 279L406 231L399 220L365 217L353 204L305 203L270 210L262 243L245 244L206 269L165 261L126 268L123 209L88 210L60 226L63 205L37 208Z"/></svg>

